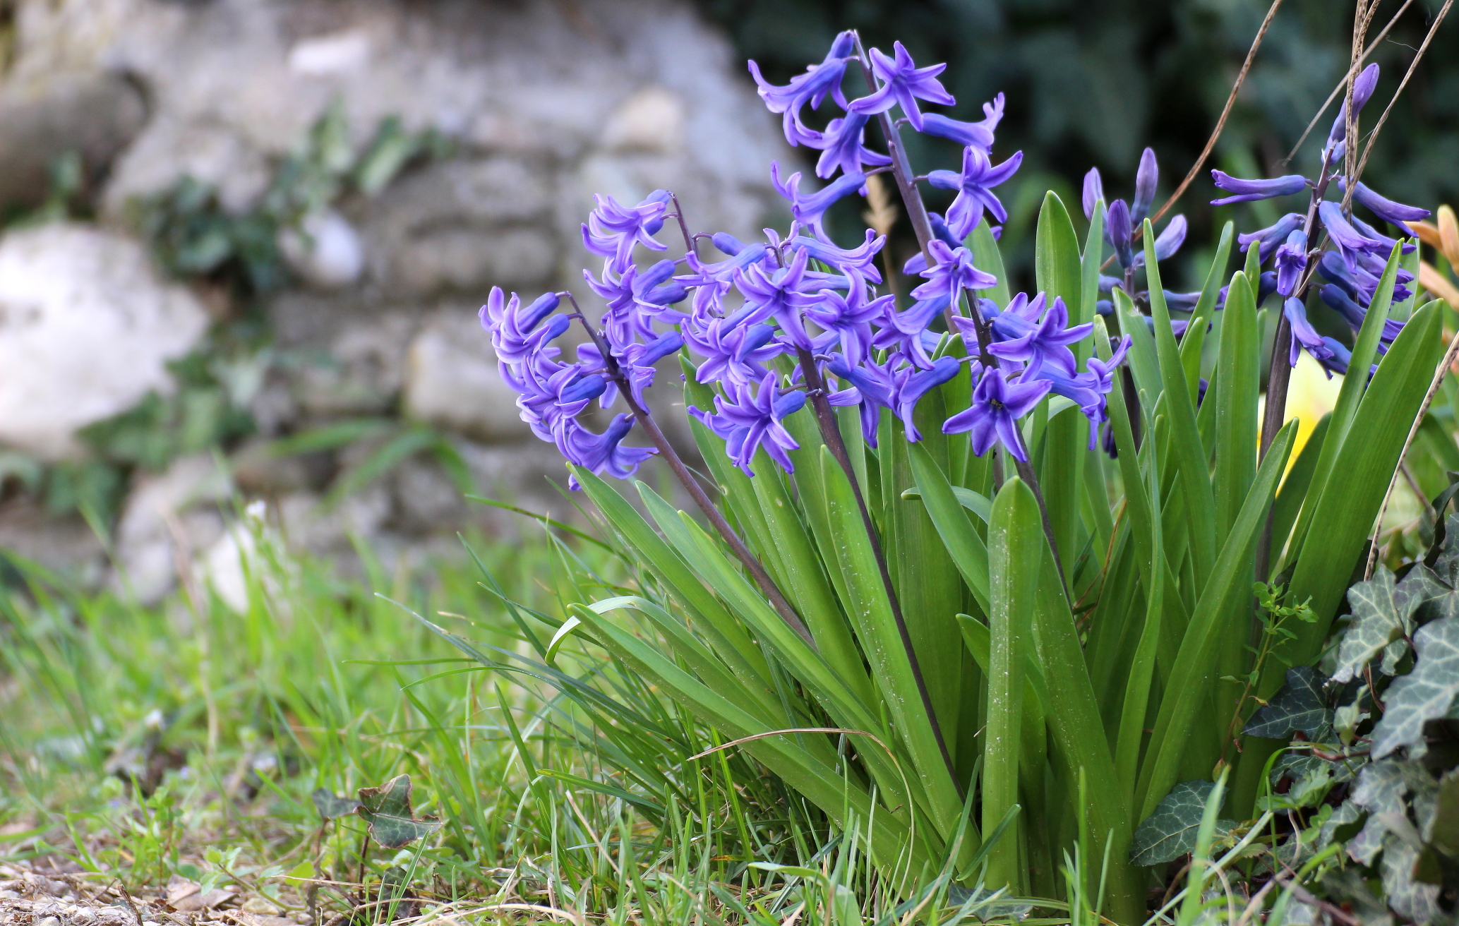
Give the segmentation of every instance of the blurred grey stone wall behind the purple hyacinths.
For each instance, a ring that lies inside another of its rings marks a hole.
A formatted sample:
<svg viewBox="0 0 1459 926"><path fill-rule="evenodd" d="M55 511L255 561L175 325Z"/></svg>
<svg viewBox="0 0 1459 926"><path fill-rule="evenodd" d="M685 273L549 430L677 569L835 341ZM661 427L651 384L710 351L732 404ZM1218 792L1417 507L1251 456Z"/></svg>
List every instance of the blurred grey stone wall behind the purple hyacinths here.
<svg viewBox="0 0 1459 926"><path fill-rule="evenodd" d="M166 392L165 362L242 311L206 280L160 273L128 203L193 176L225 209L254 209L331 105L343 106L356 147L388 117L449 141L449 156L407 169L378 195L315 210L282 242L295 283L268 296L270 344L233 370L231 391L257 430L223 448L222 465L201 454L130 474L114 531L121 575L77 515L48 515L34 491L4 483L0 547L109 575L142 598L160 595L187 563L236 548L228 525L239 494L266 499L293 542L322 554L347 553L350 534L419 556L473 525L519 529L467 506L429 454L321 505L387 436L289 456L271 442L341 421L436 427L484 493L569 510L543 478L560 477L562 462L516 419L477 325L489 289L582 293L581 268L595 261L578 226L594 192L632 203L671 188L696 227L737 235L778 216L767 184L767 162L785 156L775 120L690 0L10 7L0 204L34 209L48 165L74 152L93 219L0 236L7 459L85 456L77 427L149 389Z"/></svg>

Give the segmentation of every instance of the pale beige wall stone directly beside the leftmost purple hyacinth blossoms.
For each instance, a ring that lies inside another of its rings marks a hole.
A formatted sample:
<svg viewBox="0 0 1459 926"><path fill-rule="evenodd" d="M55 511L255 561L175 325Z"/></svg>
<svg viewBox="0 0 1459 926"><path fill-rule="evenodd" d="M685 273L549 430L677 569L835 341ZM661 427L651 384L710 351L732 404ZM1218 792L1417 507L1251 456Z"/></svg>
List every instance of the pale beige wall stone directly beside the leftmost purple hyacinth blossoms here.
<svg viewBox="0 0 1459 926"><path fill-rule="evenodd" d="M516 410L492 341L476 319L427 324L406 353L406 413L479 440L521 440L531 430Z"/></svg>

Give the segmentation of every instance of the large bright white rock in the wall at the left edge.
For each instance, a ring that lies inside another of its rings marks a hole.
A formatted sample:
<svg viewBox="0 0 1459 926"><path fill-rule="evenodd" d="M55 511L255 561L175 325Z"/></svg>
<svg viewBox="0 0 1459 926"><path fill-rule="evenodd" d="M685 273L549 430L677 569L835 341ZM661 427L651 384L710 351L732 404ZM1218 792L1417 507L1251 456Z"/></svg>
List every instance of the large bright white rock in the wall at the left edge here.
<svg viewBox="0 0 1459 926"><path fill-rule="evenodd" d="M0 443L74 456L79 427L172 385L165 363L207 328L140 244L48 225L0 239Z"/></svg>

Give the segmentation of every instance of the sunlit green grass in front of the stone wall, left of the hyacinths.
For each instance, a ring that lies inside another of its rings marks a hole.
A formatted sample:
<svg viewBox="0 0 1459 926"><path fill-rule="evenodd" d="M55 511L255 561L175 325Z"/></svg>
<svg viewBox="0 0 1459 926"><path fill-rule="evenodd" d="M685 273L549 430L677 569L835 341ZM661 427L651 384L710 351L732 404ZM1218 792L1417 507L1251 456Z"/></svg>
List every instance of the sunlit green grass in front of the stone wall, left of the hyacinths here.
<svg viewBox="0 0 1459 926"><path fill-rule="evenodd" d="M179 876L341 923L1020 910L937 872L897 895L867 862L864 821L835 831L611 658L549 652L568 605L641 588L598 544L473 538L425 573L362 548L368 575L341 580L258 518L235 529L242 611L206 580L146 608L9 557L0 862L140 904ZM398 852L311 799L398 774L416 814L444 821Z"/></svg>

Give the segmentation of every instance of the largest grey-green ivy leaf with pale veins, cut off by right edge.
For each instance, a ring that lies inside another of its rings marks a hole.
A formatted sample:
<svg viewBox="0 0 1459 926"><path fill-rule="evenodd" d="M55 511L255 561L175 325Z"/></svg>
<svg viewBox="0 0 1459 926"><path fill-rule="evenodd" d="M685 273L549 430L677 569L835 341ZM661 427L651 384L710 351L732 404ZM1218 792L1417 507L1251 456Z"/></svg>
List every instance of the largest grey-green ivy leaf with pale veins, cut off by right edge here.
<svg viewBox="0 0 1459 926"><path fill-rule="evenodd" d="M1373 758L1399 747L1409 747L1409 758L1423 755L1424 723L1444 716L1459 694L1459 620L1421 627L1414 652L1414 671L1388 688L1388 706L1373 728Z"/></svg>

